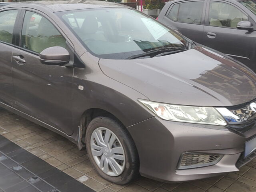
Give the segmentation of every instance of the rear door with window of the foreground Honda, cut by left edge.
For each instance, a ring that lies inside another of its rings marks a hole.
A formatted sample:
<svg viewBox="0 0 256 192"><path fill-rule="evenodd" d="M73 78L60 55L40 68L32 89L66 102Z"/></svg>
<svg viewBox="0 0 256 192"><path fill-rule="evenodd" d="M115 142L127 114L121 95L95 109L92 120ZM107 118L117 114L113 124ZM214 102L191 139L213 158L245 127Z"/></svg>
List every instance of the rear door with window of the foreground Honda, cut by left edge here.
<svg viewBox="0 0 256 192"><path fill-rule="evenodd" d="M18 10L0 12L0 102L10 106L14 98L11 58L17 14Z"/></svg>

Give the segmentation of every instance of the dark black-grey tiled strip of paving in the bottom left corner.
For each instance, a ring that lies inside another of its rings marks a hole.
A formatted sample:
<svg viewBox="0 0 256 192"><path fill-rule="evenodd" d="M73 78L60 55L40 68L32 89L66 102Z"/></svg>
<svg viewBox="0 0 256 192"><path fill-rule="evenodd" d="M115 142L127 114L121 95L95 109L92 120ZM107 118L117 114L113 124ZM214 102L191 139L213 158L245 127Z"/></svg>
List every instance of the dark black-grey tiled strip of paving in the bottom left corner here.
<svg viewBox="0 0 256 192"><path fill-rule="evenodd" d="M71 189L71 190L70 190ZM0 191L94 192L91 188L0 136Z"/></svg>

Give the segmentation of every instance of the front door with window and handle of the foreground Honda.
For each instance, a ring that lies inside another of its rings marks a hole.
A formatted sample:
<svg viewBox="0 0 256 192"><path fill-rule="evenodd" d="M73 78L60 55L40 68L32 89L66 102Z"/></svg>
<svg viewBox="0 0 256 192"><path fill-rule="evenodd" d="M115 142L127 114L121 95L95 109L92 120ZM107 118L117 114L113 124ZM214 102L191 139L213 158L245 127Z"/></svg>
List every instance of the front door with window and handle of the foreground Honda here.
<svg viewBox="0 0 256 192"><path fill-rule="evenodd" d="M12 53L16 108L71 135L73 68L41 64L39 53L66 40L40 14L26 11L20 48Z"/></svg>

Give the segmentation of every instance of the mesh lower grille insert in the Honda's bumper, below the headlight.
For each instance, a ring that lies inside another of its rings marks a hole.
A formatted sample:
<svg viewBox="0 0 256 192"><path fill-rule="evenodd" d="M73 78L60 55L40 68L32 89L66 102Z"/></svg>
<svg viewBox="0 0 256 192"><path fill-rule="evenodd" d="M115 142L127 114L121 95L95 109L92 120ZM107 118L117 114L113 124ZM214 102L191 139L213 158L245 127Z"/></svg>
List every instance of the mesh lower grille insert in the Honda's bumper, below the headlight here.
<svg viewBox="0 0 256 192"><path fill-rule="evenodd" d="M210 166L218 163L222 155L184 153L180 159L178 169L189 169Z"/></svg>

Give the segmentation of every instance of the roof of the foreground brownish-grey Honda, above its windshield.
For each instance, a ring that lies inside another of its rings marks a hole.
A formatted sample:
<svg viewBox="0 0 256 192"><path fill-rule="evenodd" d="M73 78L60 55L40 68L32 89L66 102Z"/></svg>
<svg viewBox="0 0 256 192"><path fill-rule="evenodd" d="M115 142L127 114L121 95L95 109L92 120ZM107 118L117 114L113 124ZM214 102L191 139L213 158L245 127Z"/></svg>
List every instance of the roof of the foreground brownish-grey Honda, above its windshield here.
<svg viewBox="0 0 256 192"><path fill-rule="evenodd" d="M90 8L109 8L109 7L128 7L123 4L106 2L101 0L42 0L22 2L8 7L29 7L36 8L38 6L47 7L52 12L90 9Z"/></svg>

